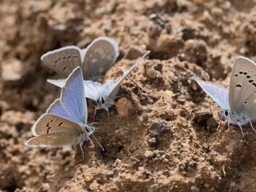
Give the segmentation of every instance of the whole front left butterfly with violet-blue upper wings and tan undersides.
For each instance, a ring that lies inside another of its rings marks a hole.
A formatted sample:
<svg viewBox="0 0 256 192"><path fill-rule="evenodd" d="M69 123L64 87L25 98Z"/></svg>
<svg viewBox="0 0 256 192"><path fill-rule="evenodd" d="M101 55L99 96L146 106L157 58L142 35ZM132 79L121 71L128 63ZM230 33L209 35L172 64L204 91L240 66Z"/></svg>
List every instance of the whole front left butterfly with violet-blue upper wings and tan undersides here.
<svg viewBox="0 0 256 192"><path fill-rule="evenodd" d="M87 124L87 104L83 75L76 67L65 80L61 96L56 99L32 128L32 137L24 144L31 147L82 145L90 140L96 128Z"/></svg>

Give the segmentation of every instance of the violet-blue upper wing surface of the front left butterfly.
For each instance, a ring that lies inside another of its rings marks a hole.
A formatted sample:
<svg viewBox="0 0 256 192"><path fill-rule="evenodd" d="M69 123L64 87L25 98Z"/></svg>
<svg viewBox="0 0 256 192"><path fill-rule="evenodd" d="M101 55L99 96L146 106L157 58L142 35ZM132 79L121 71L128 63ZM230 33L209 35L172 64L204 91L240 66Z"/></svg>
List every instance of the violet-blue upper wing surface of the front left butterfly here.
<svg viewBox="0 0 256 192"><path fill-rule="evenodd" d="M76 67L66 79L61 98L47 109L52 113L83 126L87 123L87 104L84 97L83 75L80 67Z"/></svg>

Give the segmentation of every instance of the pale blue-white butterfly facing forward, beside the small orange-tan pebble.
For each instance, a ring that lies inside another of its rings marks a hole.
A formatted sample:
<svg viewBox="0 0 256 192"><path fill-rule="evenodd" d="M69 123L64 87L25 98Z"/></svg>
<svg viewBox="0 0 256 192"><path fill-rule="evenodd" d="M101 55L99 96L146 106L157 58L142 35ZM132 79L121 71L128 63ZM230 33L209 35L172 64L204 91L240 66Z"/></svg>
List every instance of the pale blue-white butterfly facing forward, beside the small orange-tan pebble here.
<svg viewBox="0 0 256 192"><path fill-rule="evenodd" d="M132 70L134 70L135 67L137 67L143 58L148 55L150 51L145 52L145 54L137 61L129 70L125 71L123 76L116 82L113 80L108 80L104 84L101 84L99 82L93 82L93 81L84 81L84 95L85 97L89 99L93 99L97 102L97 106L94 111L94 116L96 114L97 110L105 109L108 112L108 108L110 108L112 105L115 105L113 102L116 98L116 95L119 91L120 84L122 81L131 73ZM64 85L64 79L61 80L47 80L48 82L55 84L58 87L63 87ZM109 112L108 112L108 118L109 118Z"/></svg>

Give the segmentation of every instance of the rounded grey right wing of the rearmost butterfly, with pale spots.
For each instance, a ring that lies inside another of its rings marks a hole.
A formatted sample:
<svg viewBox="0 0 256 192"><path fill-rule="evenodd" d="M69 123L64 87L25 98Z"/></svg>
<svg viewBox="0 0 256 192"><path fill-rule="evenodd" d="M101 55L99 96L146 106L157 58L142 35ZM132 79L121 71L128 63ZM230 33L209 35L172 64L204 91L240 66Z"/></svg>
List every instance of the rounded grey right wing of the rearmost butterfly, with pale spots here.
<svg viewBox="0 0 256 192"><path fill-rule="evenodd" d="M96 38L87 48L83 56L82 71L84 77L87 73L93 81L100 76L100 68L108 70L119 55L118 44L111 38Z"/></svg>

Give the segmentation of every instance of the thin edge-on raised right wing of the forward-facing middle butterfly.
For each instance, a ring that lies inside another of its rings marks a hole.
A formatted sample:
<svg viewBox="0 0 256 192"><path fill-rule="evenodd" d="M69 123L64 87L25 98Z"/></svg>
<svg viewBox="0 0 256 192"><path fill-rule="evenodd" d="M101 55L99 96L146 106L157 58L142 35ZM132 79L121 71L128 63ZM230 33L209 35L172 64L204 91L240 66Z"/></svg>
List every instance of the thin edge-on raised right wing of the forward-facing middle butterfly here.
<svg viewBox="0 0 256 192"><path fill-rule="evenodd" d="M145 54L139 59L139 61L137 61L129 70L125 71L123 76L118 81L116 81L113 88L108 92L109 99L113 100L116 97L116 94L120 88L120 84L122 83L122 81L129 75L129 73L131 73L132 70L134 70L135 67L137 67L141 63L143 58L146 55L148 55L148 53L150 53L150 51L145 52Z"/></svg>

